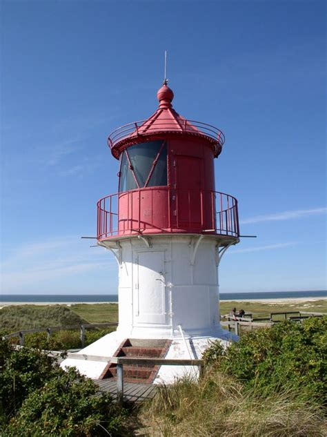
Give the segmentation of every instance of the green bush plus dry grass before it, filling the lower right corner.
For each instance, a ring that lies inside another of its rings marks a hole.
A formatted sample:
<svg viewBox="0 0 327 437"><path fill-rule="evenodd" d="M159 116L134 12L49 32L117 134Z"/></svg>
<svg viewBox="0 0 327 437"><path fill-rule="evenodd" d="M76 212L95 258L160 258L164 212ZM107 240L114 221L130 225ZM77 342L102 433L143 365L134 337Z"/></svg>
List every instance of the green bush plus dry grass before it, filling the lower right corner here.
<svg viewBox="0 0 327 437"><path fill-rule="evenodd" d="M207 370L161 387L140 411L150 436L326 436L326 318L215 342Z"/></svg>

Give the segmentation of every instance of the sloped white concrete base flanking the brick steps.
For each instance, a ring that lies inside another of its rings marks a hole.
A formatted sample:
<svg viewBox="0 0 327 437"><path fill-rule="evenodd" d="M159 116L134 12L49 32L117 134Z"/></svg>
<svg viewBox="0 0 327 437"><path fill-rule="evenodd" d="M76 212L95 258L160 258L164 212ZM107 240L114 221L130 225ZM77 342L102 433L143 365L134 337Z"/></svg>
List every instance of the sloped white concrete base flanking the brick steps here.
<svg viewBox="0 0 327 437"><path fill-rule="evenodd" d="M174 337L165 358L200 359L210 345L210 342L219 340L224 347L227 347L229 342L237 341L238 339L238 336L235 336L235 334L221 328L212 332L210 336L186 336L185 340L182 337ZM122 337L119 332L115 331L81 349L77 354L110 358L117 351L123 340L126 340L126 337ZM106 365L107 363L103 361L74 360L72 358L67 358L61 362L63 369L66 367L76 367L82 375L92 379L99 379ZM153 384L172 384L183 376L198 378L199 369L195 366L161 366Z"/></svg>

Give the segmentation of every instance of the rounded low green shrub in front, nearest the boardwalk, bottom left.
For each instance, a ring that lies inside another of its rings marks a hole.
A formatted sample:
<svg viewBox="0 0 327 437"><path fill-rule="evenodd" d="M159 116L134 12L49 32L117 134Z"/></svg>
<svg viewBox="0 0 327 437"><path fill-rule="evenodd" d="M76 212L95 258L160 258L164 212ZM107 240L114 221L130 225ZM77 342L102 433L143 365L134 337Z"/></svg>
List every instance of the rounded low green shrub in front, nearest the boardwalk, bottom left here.
<svg viewBox="0 0 327 437"><path fill-rule="evenodd" d="M4 436L121 436L125 414L109 394L74 369L51 378L24 400Z"/></svg>

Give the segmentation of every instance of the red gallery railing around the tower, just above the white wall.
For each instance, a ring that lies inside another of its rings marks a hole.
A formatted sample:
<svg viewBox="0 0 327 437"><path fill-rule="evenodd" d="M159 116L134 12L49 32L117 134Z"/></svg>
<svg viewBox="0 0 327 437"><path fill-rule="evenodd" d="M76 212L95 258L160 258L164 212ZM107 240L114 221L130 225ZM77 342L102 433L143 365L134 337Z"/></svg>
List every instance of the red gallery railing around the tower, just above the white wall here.
<svg viewBox="0 0 327 437"><path fill-rule="evenodd" d="M98 240L179 232L238 237L237 200L218 191L160 186L115 193L97 202Z"/></svg>

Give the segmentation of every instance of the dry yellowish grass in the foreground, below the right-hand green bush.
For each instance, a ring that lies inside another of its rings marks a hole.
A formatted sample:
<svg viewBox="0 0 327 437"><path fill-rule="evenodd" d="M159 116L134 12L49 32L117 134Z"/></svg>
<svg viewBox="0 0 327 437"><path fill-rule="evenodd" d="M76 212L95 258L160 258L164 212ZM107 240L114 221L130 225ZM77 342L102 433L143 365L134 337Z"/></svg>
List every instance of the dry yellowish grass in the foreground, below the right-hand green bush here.
<svg viewBox="0 0 327 437"><path fill-rule="evenodd" d="M235 380L211 371L199 382L184 379L160 387L143 405L147 436L282 437L327 436L320 407L295 392L259 396Z"/></svg>

